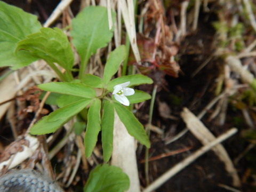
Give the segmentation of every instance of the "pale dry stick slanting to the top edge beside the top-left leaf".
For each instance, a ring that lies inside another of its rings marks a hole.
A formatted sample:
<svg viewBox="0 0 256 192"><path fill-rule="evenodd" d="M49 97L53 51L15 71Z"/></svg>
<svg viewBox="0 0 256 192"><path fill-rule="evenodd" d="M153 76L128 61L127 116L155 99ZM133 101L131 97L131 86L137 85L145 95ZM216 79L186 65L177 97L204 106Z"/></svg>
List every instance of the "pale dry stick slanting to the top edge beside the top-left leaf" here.
<svg viewBox="0 0 256 192"><path fill-rule="evenodd" d="M58 17L60 17L61 13L69 6L69 4L73 0L62 0L59 5L52 12L51 16L44 23L44 27L49 27Z"/></svg>

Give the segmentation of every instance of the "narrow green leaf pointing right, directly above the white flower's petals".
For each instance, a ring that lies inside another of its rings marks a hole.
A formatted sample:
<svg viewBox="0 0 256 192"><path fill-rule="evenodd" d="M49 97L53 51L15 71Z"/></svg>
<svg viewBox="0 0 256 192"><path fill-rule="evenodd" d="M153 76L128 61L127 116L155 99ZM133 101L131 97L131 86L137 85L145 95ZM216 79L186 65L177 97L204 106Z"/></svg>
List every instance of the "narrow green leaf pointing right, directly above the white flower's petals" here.
<svg viewBox="0 0 256 192"><path fill-rule="evenodd" d="M129 81L131 82L129 87L141 85L141 84L152 84L153 83L153 80L145 75L141 75L141 74L127 75L127 76L118 77L118 78L113 79L111 82L109 82L107 89L108 89L108 91L113 91L115 85L129 82Z"/></svg>

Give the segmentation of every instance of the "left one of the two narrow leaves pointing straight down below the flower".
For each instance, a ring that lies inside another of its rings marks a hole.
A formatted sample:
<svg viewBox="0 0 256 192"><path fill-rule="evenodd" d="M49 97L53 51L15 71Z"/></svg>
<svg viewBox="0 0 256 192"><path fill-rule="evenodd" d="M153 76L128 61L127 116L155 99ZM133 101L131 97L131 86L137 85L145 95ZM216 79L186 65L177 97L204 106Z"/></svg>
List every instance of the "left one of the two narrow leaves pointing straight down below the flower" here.
<svg viewBox="0 0 256 192"><path fill-rule="evenodd" d="M100 107L101 101L95 100L88 111L88 122L84 137L85 156L90 157L98 140L100 132Z"/></svg>

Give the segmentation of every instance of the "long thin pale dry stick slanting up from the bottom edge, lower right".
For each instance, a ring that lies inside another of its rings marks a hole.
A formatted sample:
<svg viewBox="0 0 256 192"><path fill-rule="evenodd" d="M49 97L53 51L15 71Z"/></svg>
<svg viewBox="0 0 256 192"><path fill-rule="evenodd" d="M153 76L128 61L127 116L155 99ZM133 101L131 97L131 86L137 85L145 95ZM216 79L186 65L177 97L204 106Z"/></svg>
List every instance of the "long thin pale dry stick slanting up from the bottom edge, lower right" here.
<svg viewBox="0 0 256 192"><path fill-rule="evenodd" d="M190 163L194 162L198 157L200 157L203 154L205 154L207 151L209 151L215 145L217 145L220 142L228 139L229 137L231 137L231 135L235 134L236 132L237 132L237 129L236 128L232 128L229 131L227 131L226 133L223 133L222 135L220 135L214 141L212 141L212 142L208 143L207 145L201 147L195 153L193 153L192 155L190 155L187 158L183 159L183 161L181 161L180 163L174 165L174 167L172 167L170 170L168 170L163 175L161 175L158 179L156 179L153 183L151 183L151 185L149 185L142 192L150 192L150 191L153 191L153 190L157 189L158 187L163 185L164 182L166 182L171 177L173 177L173 175L175 175L178 172L180 172L182 169L184 169Z"/></svg>

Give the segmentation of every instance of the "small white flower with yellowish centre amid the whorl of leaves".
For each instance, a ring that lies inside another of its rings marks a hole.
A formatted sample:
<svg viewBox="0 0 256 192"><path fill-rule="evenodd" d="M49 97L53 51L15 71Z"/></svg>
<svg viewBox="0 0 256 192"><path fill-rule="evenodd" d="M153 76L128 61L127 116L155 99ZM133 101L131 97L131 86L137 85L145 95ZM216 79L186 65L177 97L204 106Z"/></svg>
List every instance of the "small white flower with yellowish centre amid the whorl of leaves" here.
<svg viewBox="0 0 256 192"><path fill-rule="evenodd" d="M117 101L121 102L125 106L129 106L130 102L125 96L133 95L134 89L127 87L130 82L125 82L114 86L114 97Z"/></svg>

